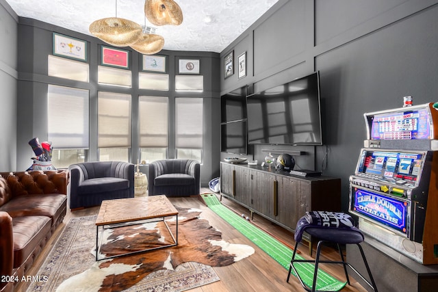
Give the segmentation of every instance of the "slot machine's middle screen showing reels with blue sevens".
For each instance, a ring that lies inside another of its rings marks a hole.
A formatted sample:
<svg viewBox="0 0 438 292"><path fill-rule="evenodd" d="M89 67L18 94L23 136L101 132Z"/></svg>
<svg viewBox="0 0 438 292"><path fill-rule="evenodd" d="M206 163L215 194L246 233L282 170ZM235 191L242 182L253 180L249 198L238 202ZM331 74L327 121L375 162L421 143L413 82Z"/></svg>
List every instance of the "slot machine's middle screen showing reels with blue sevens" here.
<svg viewBox="0 0 438 292"><path fill-rule="evenodd" d="M385 178L390 183L420 180L424 153L362 150L357 173Z"/></svg>

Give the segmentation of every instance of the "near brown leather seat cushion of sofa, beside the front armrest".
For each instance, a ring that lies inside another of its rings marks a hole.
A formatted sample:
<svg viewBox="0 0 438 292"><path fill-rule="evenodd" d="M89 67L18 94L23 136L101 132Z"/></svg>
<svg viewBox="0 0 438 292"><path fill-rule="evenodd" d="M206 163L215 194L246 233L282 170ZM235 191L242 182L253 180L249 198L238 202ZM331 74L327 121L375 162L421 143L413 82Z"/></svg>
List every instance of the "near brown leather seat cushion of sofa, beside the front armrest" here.
<svg viewBox="0 0 438 292"><path fill-rule="evenodd" d="M38 245L45 243L44 237L50 232L50 218L45 216L25 216L12 218L14 233L14 268L20 267Z"/></svg>

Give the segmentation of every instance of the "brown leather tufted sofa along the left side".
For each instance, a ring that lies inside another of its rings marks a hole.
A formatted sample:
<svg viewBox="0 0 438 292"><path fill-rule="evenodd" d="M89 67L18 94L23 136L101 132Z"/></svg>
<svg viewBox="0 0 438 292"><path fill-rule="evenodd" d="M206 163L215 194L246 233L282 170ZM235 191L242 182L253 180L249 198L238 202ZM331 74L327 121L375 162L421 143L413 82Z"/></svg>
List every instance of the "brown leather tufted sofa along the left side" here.
<svg viewBox="0 0 438 292"><path fill-rule="evenodd" d="M68 170L0 172L0 291L20 284L67 206Z"/></svg>

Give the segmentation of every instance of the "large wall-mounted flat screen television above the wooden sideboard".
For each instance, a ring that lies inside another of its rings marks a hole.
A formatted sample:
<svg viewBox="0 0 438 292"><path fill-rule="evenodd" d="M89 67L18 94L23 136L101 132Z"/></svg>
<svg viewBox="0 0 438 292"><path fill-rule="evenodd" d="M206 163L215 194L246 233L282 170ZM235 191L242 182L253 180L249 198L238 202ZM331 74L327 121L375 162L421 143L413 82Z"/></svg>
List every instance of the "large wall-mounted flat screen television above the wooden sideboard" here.
<svg viewBox="0 0 438 292"><path fill-rule="evenodd" d="M246 97L248 144L322 145L320 75Z"/></svg>

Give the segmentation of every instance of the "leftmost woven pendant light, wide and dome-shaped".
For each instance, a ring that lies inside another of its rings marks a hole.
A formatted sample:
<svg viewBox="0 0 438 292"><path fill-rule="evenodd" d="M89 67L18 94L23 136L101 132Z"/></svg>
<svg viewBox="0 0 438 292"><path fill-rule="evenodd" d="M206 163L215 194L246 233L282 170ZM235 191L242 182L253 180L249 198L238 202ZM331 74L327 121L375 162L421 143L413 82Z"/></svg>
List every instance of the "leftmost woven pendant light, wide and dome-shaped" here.
<svg viewBox="0 0 438 292"><path fill-rule="evenodd" d="M142 35L142 26L125 18L109 17L94 21L90 33L108 44L127 47L138 41Z"/></svg>

